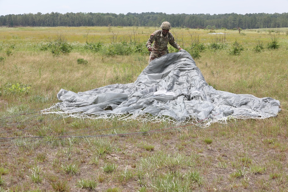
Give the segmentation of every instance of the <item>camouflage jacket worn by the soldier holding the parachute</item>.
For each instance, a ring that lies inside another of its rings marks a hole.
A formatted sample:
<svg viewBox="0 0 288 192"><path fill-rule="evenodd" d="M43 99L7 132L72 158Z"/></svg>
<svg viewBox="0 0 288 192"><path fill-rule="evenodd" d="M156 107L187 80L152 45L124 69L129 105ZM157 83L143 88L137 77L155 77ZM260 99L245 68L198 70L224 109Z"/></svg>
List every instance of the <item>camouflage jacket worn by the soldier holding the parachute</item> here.
<svg viewBox="0 0 288 192"><path fill-rule="evenodd" d="M153 41L155 41L153 43ZM152 47L152 52L156 52L160 55L168 53L168 42L176 49L180 49L180 46L175 42L172 33L169 31L165 36L162 34L162 30L154 31L146 43L146 47ZM153 46L151 44L153 43Z"/></svg>

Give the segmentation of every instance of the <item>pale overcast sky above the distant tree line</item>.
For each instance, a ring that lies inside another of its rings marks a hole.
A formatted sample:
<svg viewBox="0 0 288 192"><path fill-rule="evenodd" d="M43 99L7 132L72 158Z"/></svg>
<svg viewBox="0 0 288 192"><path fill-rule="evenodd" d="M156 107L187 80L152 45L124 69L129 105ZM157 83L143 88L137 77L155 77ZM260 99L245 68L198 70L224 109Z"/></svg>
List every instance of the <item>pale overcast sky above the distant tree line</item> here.
<svg viewBox="0 0 288 192"><path fill-rule="evenodd" d="M58 12L166 14L284 13L288 0L0 0L0 15Z"/></svg>

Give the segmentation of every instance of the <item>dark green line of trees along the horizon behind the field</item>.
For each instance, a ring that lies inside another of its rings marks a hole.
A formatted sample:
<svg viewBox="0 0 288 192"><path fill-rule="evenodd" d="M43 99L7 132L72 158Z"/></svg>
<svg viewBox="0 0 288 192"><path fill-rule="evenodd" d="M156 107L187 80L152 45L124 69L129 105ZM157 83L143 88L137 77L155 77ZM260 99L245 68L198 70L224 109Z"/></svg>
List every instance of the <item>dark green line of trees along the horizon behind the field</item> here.
<svg viewBox="0 0 288 192"><path fill-rule="evenodd" d="M288 27L288 13L166 14L166 13L65 13L9 14L0 26L155 26L169 21L173 27L242 29Z"/></svg>

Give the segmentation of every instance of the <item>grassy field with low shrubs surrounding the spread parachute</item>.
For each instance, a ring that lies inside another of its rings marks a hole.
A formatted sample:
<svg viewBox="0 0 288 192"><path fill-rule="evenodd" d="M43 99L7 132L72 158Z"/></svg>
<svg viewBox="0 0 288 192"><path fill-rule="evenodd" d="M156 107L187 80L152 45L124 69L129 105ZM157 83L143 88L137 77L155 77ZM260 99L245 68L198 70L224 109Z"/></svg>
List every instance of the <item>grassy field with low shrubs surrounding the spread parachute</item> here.
<svg viewBox="0 0 288 192"><path fill-rule="evenodd" d="M40 113L61 88L134 82L157 29L0 27L0 191L288 191L287 28L171 30L210 85L278 99L277 117L201 128Z"/></svg>

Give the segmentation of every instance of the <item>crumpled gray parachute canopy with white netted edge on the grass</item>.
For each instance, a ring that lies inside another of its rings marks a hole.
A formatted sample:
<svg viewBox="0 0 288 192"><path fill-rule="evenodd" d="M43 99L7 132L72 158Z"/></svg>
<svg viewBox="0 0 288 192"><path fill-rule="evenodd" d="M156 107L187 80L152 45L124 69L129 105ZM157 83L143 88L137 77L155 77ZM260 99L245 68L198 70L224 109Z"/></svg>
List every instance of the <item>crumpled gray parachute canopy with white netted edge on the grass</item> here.
<svg viewBox="0 0 288 192"><path fill-rule="evenodd" d="M60 101L43 113L141 121L192 122L209 126L229 118L275 117L280 102L270 97L215 90L185 50L150 62L134 83L114 84L74 93L61 89Z"/></svg>

